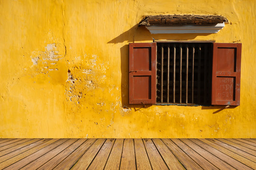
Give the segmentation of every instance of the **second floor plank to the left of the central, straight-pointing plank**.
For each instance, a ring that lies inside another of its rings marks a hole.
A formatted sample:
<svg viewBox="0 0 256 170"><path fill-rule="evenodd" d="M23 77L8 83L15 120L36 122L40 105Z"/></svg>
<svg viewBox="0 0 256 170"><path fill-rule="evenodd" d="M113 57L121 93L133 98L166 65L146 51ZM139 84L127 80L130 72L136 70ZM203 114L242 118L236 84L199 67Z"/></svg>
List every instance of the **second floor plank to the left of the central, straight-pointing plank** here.
<svg viewBox="0 0 256 170"><path fill-rule="evenodd" d="M103 170L115 139L107 139L87 170Z"/></svg>

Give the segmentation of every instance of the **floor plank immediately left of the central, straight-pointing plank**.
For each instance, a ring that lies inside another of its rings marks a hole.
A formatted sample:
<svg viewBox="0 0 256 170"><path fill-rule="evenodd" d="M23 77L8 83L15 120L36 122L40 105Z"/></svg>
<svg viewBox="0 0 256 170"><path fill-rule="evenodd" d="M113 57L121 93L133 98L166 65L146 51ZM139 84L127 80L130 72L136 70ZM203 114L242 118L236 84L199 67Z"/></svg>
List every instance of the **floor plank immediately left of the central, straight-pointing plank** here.
<svg viewBox="0 0 256 170"><path fill-rule="evenodd" d="M124 139L116 139L109 159L105 166L105 170L119 170Z"/></svg>

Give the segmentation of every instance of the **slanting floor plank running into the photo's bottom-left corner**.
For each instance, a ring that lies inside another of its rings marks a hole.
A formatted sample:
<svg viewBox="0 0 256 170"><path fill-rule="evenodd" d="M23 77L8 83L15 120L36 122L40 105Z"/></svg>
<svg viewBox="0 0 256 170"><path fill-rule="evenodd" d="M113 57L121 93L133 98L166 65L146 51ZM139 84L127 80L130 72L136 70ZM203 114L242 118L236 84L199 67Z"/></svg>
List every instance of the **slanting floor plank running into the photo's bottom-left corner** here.
<svg viewBox="0 0 256 170"><path fill-rule="evenodd" d="M12 165L14 165L15 162L24 159L24 158L27 157L28 155L31 155L31 154L33 154L33 153L35 153L35 152L41 150L42 148L48 146L49 144L55 143L55 142L58 141L58 140L59 140L59 139L51 139L51 140L48 140L48 141L46 141L45 143L40 144L40 145L38 145L38 146L36 146L36 147L33 147L32 149L29 149L29 150L27 150L27 151L24 152L24 153L20 153L20 154L18 154L18 155L16 155L16 156L14 156L14 157L12 157L12 158L6 160L6 161L3 161L3 162L0 163L0 169L6 168L6 167L8 167L8 166L12 166ZM29 163L29 162L27 162L27 163ZM9 168L9 167L8 167L8 168Z"/></svg>

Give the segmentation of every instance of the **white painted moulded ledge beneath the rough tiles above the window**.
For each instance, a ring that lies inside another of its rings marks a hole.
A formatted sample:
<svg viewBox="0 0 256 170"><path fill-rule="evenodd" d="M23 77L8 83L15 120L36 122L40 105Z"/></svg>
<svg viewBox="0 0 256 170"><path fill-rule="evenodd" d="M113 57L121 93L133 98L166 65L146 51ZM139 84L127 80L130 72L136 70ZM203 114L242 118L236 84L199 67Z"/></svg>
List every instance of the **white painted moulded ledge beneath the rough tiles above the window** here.
<svg viewBox="0 0 256 170"><path fill-rule="evenodd" d="M151 34L218 33L224 22L213 25L146 26Z"/></svg>

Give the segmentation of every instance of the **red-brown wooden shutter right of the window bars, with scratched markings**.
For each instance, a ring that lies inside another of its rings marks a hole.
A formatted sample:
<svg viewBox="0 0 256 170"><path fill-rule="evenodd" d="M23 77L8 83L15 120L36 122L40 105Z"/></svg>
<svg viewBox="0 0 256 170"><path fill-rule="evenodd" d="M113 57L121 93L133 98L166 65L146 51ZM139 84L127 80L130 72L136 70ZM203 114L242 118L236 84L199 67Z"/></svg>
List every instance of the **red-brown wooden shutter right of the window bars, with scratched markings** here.
<svg viewBox="0 0 256 170"><path fill-rule="evenodd" d="M241 43L213 43L213 105L240 105Z"/></svg>

